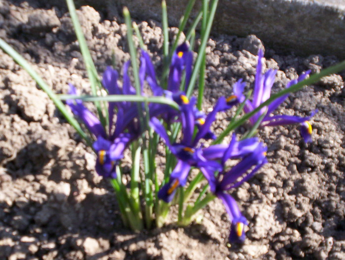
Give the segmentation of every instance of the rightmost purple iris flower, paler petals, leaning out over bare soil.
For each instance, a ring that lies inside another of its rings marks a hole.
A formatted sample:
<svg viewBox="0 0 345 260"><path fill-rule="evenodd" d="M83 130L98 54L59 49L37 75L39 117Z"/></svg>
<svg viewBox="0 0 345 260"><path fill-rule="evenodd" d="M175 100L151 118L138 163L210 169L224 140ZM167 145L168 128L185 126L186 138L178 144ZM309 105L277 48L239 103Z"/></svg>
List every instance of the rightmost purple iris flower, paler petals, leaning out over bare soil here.
<svg viewBox="0 0 345 260"><path fill-rule="evenodd" d="M259 50L258 52L258 62L256 67L254 91L252 101L246 101L244 110L246 113L251 112L260 104L264 103L271 96L271 89L277 74L277 70L269 69L265 74L262 74L262 57L263 51ZM302 73L297 79L292 80L288 83L287 88L295 85L297 82L304 80L310 73L310 70ZM245 85L242 83L242 80L239 80L234 86L234 95L230 96L227 101L229 102L243 102L245 96L243 95ZM304 142L311 141L312 127L309 123L310 118L315 114L316 111L313 111L310 116L299 117L294 115L271 115L271 113L282 104L289 94L284 95L274 102L269 104L267 107L263 107L260 111L254 114L249 118L250 123L253 125L258 120L258 118L263 114L266 115L263 117L261 126L274 126L274 125L287 125L287 124L300 124L300 133L304 139ZM266 111L267 110L267 111Z"/></svg>

